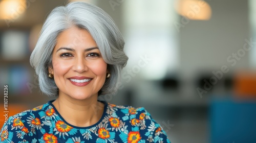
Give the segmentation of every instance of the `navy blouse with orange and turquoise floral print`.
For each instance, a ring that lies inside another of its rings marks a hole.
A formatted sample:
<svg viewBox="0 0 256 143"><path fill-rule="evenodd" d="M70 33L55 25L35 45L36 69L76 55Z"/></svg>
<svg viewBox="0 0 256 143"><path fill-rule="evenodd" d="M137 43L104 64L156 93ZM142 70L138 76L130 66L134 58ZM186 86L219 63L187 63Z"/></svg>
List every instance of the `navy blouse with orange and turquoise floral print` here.
<svg viewBox="0 0 256 143"><path fill-rule="evenodd" d="M10 116L1 130L1 142L170 142L144 108L103 102L98 123L76 127L61 117L52 102Z"/></svg>

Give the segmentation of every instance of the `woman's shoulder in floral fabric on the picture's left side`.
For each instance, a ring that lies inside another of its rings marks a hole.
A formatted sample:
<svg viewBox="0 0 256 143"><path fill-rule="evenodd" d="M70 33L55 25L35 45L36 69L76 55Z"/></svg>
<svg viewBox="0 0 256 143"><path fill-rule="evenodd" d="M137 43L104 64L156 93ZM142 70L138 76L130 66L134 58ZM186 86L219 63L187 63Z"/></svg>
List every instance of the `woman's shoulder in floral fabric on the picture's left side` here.
<svg viewBox="0 0 256 143"><path fill-rule="evenodd" d="M10 116L1 132L4 142L35 142L36 130L41 130L42 120L52 107L49 103Z"/></svg>

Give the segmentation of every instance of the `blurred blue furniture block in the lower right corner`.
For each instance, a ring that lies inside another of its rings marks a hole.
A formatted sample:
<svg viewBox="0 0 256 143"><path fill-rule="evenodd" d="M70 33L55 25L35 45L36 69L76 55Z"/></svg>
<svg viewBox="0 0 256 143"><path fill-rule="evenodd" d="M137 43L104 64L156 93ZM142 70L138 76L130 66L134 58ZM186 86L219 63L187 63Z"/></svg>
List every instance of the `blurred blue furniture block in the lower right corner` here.
<svg viewBox="0 0 256 143"><path fill-rule="evenodd" d="M256 101L214 99L210 105L210 142L256 142Z"/></svg>

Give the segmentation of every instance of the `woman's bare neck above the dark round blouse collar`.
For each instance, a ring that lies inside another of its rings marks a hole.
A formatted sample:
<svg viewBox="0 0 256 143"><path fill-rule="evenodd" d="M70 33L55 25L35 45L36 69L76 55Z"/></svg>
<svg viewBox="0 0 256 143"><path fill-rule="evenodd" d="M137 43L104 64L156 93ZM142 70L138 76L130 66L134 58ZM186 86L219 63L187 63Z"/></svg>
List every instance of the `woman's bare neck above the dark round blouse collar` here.
<svg viewBox="0 0 256 143"><path fill-rule="evenodd" d="M98 102L97 97L86 100L58 97L52 104L66 122L77 127L96 124L104 111L104 104Z"/></svg>

